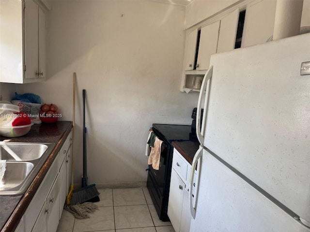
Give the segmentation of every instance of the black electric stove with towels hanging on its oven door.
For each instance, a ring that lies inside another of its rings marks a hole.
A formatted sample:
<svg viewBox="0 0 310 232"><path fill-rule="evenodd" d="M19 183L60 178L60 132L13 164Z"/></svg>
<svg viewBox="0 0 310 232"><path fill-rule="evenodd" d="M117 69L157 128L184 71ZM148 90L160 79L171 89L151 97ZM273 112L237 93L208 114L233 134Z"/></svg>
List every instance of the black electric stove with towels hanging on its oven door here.
<svg viewBox="0 0 310 232"><path fill-rule="evenodd" d="M161 151L159 170L155 170L152 165L149 165L147 188L159 218L162 221L169 221L167 211L173 156L171 143L173 141L193 140L192 129L191 126L187 125L169 124L153 124L152 129L166 147Z"/></svg>

